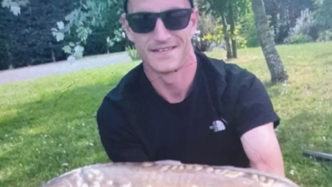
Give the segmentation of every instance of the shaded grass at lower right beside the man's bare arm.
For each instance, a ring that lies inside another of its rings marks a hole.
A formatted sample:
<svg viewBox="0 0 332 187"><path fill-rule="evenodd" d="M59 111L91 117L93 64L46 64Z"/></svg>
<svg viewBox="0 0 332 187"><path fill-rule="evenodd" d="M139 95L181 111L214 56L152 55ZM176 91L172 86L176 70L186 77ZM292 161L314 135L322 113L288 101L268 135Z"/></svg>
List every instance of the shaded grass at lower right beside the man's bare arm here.
<svg viewBox="0 0 332 187"><path fill-rule="evenodd" d="M303 186L330 186L332 164L304 157L303 150L315 150L332 154L332 116L303 112L282 120L278 139L282 147L287 177ZM290 175L291 170L295 171ZM300 185L301 186L301 185Z"/></svg>

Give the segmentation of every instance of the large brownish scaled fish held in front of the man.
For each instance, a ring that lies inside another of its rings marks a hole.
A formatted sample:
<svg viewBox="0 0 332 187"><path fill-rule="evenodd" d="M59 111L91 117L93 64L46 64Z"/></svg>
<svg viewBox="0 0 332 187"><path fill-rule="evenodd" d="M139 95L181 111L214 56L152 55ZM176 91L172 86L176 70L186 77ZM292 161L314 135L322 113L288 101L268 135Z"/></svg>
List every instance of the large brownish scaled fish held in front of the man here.
<svg viewBox="0 0 332 187"><path fill-rule="evenodd" d="M40 187L301 187L284 176L252 168L177 161L93 163Z"/></svg>

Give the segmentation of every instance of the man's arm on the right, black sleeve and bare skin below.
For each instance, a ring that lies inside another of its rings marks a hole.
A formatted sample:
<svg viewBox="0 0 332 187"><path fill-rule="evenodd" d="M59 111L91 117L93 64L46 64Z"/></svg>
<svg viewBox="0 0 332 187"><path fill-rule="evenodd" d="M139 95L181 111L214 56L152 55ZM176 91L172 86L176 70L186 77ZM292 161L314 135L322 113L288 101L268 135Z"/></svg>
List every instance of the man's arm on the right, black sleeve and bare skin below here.
<svg viewBox="0 0 332 187"><path fill-rule="evenodd" d="M279 117L259 79L252 78L239 92L236 118L250 166L284 176L284 160L274 131Z"/></svg>

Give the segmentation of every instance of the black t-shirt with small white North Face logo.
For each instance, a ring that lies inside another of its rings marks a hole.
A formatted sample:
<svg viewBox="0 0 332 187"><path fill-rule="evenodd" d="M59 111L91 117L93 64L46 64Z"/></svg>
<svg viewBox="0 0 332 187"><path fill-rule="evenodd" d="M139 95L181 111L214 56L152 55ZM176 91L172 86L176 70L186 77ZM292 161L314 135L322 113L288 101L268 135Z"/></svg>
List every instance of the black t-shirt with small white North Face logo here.
<svg viewBox="0 0 332 187"><path fill-rule="evenodd" d="M105 96L97 121L111 161L249 166L240 137L259 125L279 125L266 89L236 64L200 52L196 57L194 82L181 103L161 98L142 64Z"/></svg>

